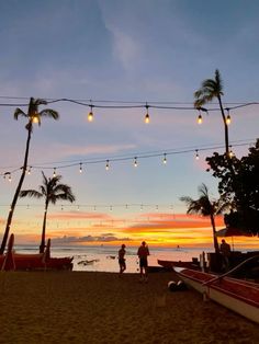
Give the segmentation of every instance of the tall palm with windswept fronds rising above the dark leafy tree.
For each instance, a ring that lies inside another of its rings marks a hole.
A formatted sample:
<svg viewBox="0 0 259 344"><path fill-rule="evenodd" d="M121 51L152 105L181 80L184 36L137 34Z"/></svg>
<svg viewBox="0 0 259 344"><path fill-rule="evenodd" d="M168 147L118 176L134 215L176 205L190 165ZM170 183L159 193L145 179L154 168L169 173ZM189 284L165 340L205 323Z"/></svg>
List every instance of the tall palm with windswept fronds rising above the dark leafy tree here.
<svg viewBox="0 0 259 344"><path fill-rule="evenodd" d="M222 105L222 95L223 93L223 82L221 78L221 73L218 69L215 70L215 79L206 79L202 82L201 88L194 92L194 106L199 110L202 108L202 105L212 102L214 99L217 99L222 119L225 129L225 148L226 148L226 156L229 156L229 142L228 142L228 126L226 122L225 112Z"/></svg>

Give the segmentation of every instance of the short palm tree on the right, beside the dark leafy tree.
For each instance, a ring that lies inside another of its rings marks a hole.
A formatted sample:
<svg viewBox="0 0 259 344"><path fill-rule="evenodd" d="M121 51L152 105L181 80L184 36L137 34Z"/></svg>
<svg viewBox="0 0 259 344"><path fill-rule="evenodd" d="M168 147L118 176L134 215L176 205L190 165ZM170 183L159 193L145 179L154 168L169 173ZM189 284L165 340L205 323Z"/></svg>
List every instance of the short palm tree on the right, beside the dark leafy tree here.
<svg viewBox="0 0 259 344"><path fill-rule="evenodd" d="M222 211L228 207L222 198L218 200L210 199L209 190L205 184L202 184L198 188L200 197L192 199L188 196L180 197L180 200L184 202L188 206L187 214L201 214L202 216L210 216L212 230L213 230L213 243L215 252L218 253L218 242L216 237L215 215L222 214Z"/></svg>

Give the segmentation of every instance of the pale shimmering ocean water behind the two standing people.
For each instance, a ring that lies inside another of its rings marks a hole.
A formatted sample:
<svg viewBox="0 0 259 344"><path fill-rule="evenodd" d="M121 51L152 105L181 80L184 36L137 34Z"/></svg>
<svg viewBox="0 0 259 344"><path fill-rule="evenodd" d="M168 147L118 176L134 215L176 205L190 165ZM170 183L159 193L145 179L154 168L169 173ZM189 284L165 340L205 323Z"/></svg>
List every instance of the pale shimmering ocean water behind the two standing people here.
<svg viewBox="0 0 259 344"><path fill-rule="evenodd" d="M18 253L37 253L38 248L33 245L15 245ZM89 245L89 246L52 246L50 256L74 256L74 271L86 272L119 272L117 251L120 245ZM210 248L153 248L149 245L149 266L159 266L157 260L190 261L200 257L202 252L212 252ZM126 248L125 273L137 273L139 270L137 246Z"/></svg>

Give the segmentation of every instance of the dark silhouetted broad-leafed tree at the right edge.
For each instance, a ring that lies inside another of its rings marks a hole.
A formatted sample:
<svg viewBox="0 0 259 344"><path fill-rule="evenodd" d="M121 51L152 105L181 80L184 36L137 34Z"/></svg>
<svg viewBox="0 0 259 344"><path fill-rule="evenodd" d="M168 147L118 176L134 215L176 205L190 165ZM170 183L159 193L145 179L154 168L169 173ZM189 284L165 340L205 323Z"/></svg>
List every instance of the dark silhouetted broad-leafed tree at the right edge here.
<svg viewBox="0 0 259 344"><path fill-rule="evenodd" d="M216 152L206 161L207 170L219 179L219 195L232 204L232 211L225 215L226 225L259 234L259 139L247 157L233 157L232 165Z"/></svg>

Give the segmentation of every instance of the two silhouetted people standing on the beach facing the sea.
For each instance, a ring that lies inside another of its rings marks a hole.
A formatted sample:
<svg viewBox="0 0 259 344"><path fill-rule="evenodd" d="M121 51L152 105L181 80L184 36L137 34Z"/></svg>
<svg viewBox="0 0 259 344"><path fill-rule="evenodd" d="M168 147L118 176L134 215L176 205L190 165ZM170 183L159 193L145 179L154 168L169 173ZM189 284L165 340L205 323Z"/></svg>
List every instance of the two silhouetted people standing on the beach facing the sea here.
<svg viewBox="0 0 259 344"><path fill-rule="evenodd" d="M120 276L123 274L123 272L126 270L126 260L125 260L125 244L123 243L121 249L119 250L119 265L120 265ZM142 242L140 246L137 250L137 256L139 260L139 274L140 274L140 280L147 282L148 278L148 262L147 256L149 255L148 245L145 241Z"/></svg>

